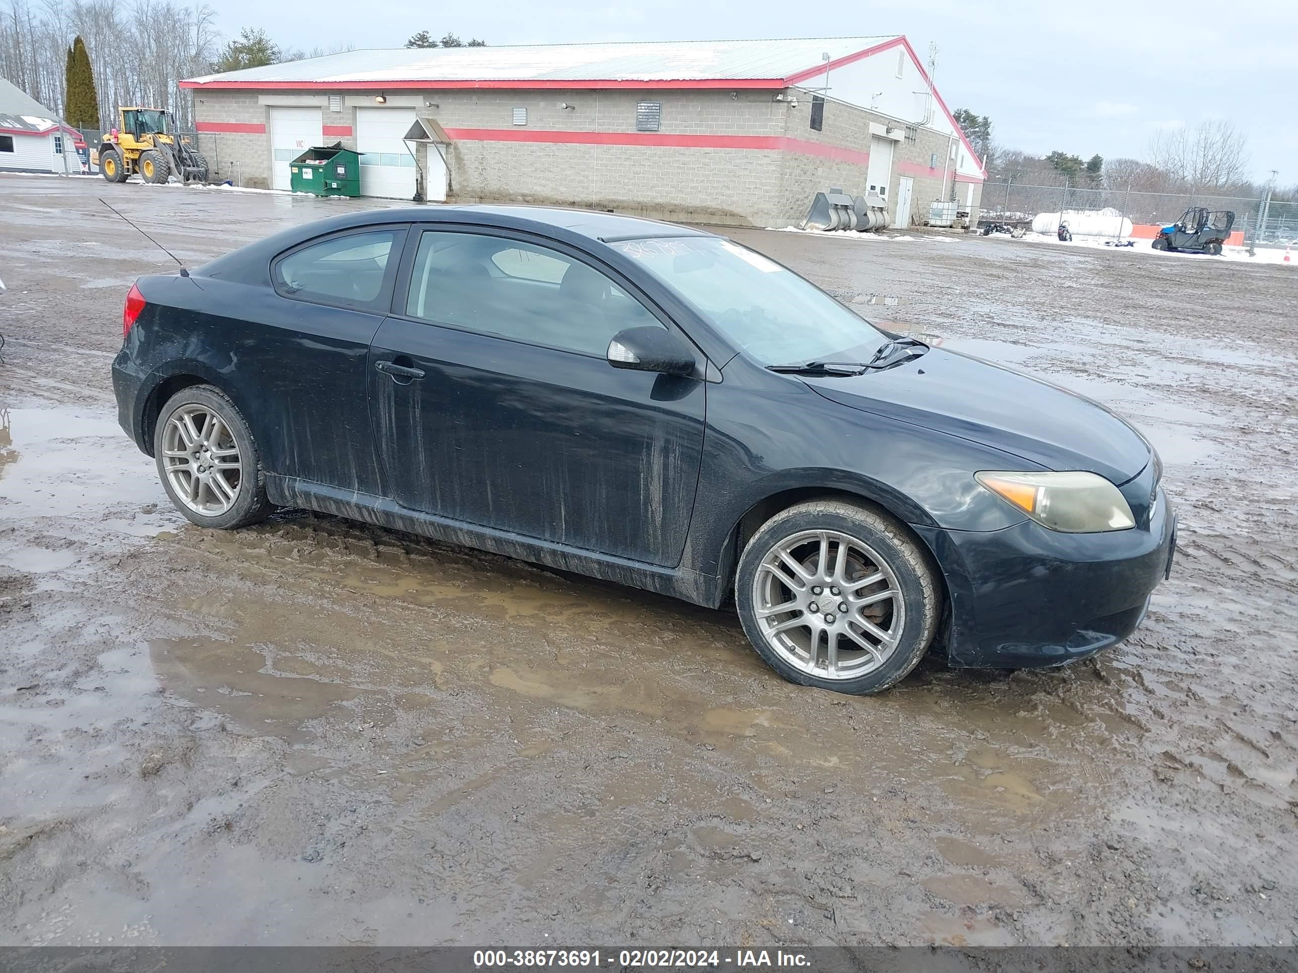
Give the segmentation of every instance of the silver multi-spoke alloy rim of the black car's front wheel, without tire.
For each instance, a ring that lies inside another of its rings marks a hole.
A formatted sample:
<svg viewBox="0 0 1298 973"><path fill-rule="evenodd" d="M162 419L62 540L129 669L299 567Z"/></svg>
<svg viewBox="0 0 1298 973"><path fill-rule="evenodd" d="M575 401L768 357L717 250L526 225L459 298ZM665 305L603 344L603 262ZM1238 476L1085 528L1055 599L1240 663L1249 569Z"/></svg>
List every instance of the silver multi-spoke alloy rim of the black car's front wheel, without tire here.
<svg viewBox="0 0 1298 973"><path fill-rule="evenodd" d="M820 679L857 679L901 643L906 599L888 563L840 531L802 531L774 545L753 577L753 610L790 666Z"/></svg>

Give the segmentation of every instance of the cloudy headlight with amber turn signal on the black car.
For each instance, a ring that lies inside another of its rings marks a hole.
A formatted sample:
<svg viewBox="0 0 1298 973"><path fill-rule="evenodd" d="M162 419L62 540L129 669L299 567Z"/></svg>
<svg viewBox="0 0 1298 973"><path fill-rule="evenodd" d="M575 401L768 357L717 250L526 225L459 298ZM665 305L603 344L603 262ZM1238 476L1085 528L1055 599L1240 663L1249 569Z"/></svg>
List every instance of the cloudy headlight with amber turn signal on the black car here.
<svg viewBox="0 0 1298 973"><path fill-rule="evenodd" d="M975 479L1042 527L1063 533L1098 533L1136 527L1131 505L1097 474L981 472Z"/></svg>

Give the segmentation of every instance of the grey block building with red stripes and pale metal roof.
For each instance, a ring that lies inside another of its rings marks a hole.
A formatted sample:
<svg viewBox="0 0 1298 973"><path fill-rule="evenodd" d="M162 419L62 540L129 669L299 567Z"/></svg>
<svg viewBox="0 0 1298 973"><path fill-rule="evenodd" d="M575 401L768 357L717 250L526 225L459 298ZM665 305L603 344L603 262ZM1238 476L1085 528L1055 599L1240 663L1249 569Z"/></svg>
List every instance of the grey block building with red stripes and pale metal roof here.
<svg viewBox="0 0 1298 973"><path fill-rule="evenodd" d="M353 51L182 84L248 187L341 141L366 196L781 227L841 188L903 228L936 200L976 219L985 178L900 35Z"/></svg>

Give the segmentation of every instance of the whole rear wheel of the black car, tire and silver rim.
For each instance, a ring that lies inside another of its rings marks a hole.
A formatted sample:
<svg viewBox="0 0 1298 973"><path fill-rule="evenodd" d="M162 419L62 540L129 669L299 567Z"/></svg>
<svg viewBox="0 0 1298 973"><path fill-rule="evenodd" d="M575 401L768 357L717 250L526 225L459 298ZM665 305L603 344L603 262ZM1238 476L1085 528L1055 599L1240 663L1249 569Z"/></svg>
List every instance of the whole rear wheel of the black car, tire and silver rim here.
<svg viewBox="0 0 1298 973"><path fill-rule="evenodd" d="M231 531L274 510L248 423L214 385L191 385L167 400L153 429L153 457L167 497L199 527Z"/></svg>

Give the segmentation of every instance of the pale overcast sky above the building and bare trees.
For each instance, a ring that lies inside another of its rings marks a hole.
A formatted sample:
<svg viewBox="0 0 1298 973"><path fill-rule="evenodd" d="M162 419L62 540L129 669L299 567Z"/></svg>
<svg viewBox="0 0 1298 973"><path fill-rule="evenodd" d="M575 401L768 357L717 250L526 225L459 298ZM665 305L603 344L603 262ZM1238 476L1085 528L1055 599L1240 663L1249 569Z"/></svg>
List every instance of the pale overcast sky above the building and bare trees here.
<svg viewBox="0 0 1298 973"><path fill-rule="evenodd" d="M1005 147L1141 158L1159 126L1224 118L1255 179L1298 183L1295 0L209 3L225 35L263 27L301 49L401 47L419 30L493 45L905 34L924 58L936 42L942 97L990 115Z"/></svg>

